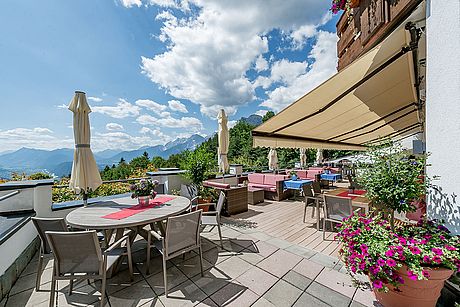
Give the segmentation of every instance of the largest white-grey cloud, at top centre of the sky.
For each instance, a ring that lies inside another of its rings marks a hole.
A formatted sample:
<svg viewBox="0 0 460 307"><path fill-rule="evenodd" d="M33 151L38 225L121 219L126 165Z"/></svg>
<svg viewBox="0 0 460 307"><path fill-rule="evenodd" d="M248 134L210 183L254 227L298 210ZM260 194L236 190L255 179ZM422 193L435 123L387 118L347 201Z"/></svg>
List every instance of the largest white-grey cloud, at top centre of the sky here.
<svg viewBox="0 0 460 307"><path fill-rule="evenodd" d="M185 1L153 3L185 7ZM199 10L185 16L183 12L157 15L163 22L158 38L167 44L166 51L152 58L142 57L142 70L167 93L199 104L201 112L212 118L222 107L233 114L238 106L255 99L246 73L268 51L267 34L271 30L280 29L289 35L302 26L317 25L329 6L317 0L188 3ZM265 63L259 61L257 67L263 69Z"/></svg>

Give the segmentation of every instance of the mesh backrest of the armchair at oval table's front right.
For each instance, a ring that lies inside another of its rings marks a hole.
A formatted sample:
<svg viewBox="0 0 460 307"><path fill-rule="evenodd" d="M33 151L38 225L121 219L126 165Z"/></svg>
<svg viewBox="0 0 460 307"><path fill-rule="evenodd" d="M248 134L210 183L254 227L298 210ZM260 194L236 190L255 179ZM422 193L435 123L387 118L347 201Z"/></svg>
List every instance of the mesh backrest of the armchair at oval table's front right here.
<svg viewBox="0 0 460 307"><path fill-rule="evenodd" d="M202 210L168 218L164 248L167 256L198 247Z"/></svg>

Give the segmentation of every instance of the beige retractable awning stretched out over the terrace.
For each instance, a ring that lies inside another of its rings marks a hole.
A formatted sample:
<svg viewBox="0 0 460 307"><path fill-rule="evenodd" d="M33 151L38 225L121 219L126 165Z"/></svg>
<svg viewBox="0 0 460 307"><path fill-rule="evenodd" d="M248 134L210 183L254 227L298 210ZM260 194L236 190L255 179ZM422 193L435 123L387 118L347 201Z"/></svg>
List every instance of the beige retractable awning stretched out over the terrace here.
<svg viewBox="0 0 460 307"><path fill-rule="evenodd" d="M255 147L364 150L421 131L410 33L401 27L252 131Z"/></svg>

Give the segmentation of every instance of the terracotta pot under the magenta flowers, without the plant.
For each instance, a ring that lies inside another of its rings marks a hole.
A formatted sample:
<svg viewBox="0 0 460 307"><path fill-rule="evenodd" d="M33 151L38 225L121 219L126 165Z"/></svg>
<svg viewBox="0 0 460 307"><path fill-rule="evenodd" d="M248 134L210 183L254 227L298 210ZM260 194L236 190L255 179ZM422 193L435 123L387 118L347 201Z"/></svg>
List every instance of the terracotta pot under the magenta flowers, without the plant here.
<svg viewBox="0 0 460 307"><path fill-rule="evenodd" d="M407 275L407 267L403 266L398 273L404 279L399 291L391 285L387 293L374 289L375 297L385 307L434 307L441 295L444 282L453 274L445 268L426 268L430 277L428 280L412 280Z"/></svg>

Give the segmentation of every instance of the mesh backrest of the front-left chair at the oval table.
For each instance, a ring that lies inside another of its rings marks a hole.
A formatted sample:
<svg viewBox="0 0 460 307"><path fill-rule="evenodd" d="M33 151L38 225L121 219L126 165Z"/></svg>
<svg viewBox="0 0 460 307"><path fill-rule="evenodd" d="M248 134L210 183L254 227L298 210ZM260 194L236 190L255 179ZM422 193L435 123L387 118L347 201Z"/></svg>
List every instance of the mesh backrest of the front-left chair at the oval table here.
<svg viewBox="0 0 460 307"><path fill-rule="evenodd" d="M102 274L102 252L95 230L45 234L53 251L56 274Z"/></svg>

